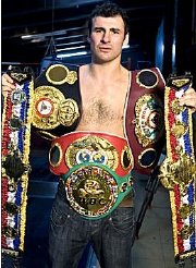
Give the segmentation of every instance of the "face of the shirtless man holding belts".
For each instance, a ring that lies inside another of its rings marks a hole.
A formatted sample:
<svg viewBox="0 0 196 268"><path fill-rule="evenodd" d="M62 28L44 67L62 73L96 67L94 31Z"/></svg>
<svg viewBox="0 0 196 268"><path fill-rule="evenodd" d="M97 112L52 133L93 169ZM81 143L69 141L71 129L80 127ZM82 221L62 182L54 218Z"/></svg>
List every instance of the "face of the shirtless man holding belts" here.
<svg viewBox="0 0 196 268"><path fill-rule="evenodd" d="M105 63L121 59L124 42L122 17L94 17L89 40L94 62Z"/></svg>

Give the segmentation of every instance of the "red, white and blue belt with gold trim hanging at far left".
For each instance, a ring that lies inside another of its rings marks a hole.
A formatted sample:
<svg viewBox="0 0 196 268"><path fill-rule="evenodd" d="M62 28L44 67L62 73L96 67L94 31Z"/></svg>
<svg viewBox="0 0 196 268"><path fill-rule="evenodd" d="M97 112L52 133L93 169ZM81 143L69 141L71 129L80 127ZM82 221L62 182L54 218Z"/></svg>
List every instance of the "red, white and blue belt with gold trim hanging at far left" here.
<svg viewBox="0 0 196 268"><path fill-rule="evenodd" d="M16 88L3 101L1 248L16 257L24 251L34 82L27 73L9 75Z"/></svg>

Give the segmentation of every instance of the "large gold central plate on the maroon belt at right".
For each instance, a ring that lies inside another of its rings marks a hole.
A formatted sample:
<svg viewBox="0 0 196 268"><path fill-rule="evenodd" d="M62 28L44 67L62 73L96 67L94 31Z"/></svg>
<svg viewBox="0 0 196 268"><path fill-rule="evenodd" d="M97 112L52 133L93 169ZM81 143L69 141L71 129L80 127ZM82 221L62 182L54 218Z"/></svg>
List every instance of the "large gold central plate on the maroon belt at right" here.
<svg viewBox="0 0 196 268"><path fill-rule="evenodd" d="M164 130L163 103L155 94L143 95L135 105L135 134L146 147L158 141Z"/></svg>

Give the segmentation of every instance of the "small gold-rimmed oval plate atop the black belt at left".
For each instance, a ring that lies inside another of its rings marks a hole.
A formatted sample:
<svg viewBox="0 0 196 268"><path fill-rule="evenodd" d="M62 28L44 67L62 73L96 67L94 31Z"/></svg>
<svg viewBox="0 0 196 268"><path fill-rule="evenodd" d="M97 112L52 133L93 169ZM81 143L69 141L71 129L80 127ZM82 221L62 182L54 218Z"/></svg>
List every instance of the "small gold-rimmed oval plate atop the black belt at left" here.
<svg viewBox="0 0 196 268"><path fill-rule="evenodd" d="M53 85L62 85L64 83L72 85L77 80L77 74L75 71L70 71L63 64L53 64L48 68L46 77Z"/></svg>

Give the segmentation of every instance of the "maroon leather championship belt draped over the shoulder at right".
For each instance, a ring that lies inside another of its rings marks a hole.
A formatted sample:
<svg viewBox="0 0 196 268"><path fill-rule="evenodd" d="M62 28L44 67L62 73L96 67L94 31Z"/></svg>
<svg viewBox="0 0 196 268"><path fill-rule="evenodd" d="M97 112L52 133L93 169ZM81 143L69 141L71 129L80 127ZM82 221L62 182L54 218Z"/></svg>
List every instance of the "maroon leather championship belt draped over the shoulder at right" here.
<svg viewBox="0 0 196 268"><path fill-rule="evenodd" d="M164 145L164 81L157 68L132 71L125 127L134 169L150 174Z"/></svg>

